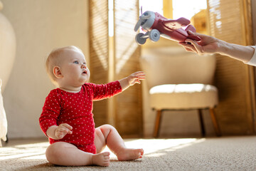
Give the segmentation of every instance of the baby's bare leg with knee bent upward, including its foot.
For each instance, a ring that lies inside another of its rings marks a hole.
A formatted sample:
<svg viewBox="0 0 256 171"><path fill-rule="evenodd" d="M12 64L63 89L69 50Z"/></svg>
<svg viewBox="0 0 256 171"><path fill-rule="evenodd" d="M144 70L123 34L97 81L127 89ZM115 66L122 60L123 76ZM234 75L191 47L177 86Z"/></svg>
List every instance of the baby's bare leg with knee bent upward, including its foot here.
<svg viewBox="0 0 256 171"><path fill-rule="evenodd" d="M95 130L95 145L97 152L101 152L105 145L117 155L118 160L135 160L142 158L143 149L127 148L124 140L111 125L102 125Z"/></svg>

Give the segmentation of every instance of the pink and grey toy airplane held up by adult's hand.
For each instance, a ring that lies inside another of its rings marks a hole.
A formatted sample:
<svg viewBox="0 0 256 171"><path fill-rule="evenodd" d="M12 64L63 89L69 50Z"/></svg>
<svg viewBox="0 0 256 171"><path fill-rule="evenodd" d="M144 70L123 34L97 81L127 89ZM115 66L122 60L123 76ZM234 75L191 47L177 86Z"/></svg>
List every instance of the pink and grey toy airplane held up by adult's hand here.
<svg viewBox="0 0 256 171"><path fill-rule="evenodd" d="M139 21L134 27L134 31L138 31L139 26L142 26L142 30L146 33L138 33L135 40L139 45L146 43L146 38L154 42L159 41L160 36L178 42L184 42L186 38L200 41L201 38L198 36L188 35L188 30L196 32L196 28L188 24L190 21L183 17L172 20L166 19L157 12L146 11L142 16L139 16ZM187 26L185 30L182 28L184 26Z"/></svg>

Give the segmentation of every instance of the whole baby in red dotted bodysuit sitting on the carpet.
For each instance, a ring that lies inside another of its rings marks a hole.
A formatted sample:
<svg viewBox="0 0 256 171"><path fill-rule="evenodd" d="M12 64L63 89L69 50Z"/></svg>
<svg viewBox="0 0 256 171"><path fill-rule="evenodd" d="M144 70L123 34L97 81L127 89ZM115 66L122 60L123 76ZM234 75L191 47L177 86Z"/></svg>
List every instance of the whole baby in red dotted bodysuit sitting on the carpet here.
<svg viewBox="0 0 256 171"><path fill-rule="evenodd" d="M53 50L46 70L58 88L51 90L43 105L39 123L50 145L46 158L55 165L110 165L110 152L118 160L142 158L143 149L131 149L111 125L95 128L92 101L110 98L145 79L142 71L112 83L87 83L90 71L85 56L75 46Z"/></svg>

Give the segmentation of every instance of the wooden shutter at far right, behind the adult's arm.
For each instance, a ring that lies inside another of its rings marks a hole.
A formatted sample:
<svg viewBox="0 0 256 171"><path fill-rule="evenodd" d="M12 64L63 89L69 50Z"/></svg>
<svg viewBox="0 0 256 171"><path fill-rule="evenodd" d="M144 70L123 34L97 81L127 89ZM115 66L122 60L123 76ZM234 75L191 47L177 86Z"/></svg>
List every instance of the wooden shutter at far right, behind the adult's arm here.
<svg viewBox="0 0 256 171"><path fill-rule="evenodd" d="M250 1L208 0L210 35L223 41L252 45ZM223 135L252 134L255 115L255 85L252 66L227 56L216 55L216 108Z"/></svg>

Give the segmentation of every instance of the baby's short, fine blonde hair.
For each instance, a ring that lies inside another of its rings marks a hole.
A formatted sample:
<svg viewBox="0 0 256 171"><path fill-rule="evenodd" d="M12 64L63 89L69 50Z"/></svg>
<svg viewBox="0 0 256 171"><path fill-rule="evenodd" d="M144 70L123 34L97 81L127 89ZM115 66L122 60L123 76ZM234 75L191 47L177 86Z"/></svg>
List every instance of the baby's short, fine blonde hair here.
<svg viewBox="0 0 256 171"><path fill-rule="evenodd" d="M53 73L53 68L55 66L60 66L62 61L61 56L65 49L78 49L79 51L81 51L81 49L76 46L65 46L62 48L55 48L53 49L53 51L50 52L46 59L46 71L48 73L48 76L50 77L50 81L52 81L55 85L57 85L57 82L56 77Z"/></svg>

